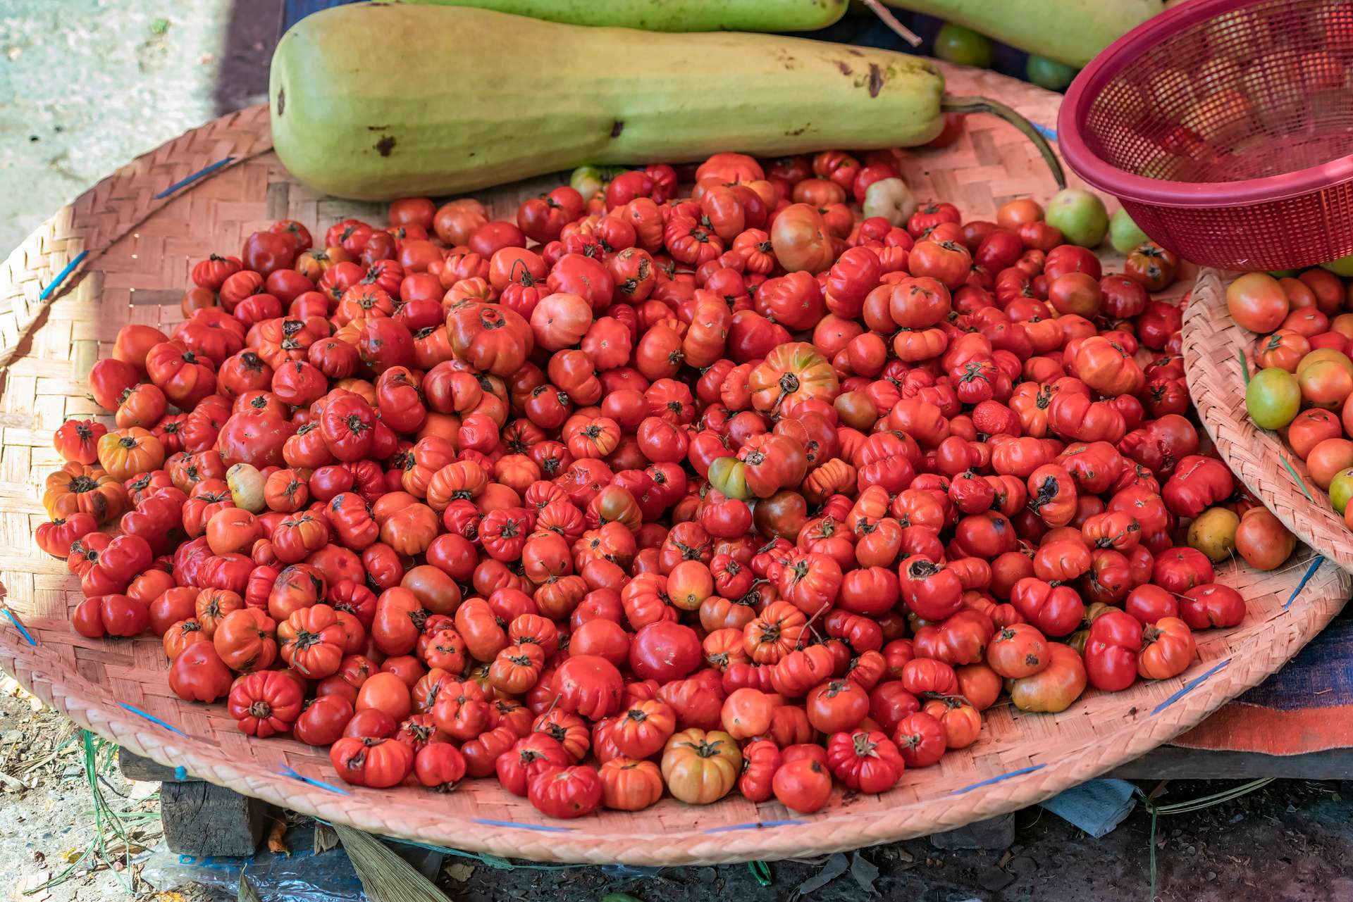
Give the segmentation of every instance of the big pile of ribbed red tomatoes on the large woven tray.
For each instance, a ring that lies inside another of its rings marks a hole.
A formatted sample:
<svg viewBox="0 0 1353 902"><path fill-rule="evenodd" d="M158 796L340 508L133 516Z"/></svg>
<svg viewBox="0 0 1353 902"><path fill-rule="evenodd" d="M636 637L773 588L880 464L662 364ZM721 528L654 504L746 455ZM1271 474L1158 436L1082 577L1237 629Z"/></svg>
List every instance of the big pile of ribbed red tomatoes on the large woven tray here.
<svg viewBox="0 0 1353 902"><path fill-rule="evenodd" d="M153 632L181 698L349 783L497 774L556 817L813 811L1003 692L1178 675L1245 604L1173 537L1253 500L1188 419L1176 262L1104 275L1032 200L859 219L900 153L583 173L515 223L400 200L198 262L185 322L93 368L115 427L55 433L74 629Z"/></svg>

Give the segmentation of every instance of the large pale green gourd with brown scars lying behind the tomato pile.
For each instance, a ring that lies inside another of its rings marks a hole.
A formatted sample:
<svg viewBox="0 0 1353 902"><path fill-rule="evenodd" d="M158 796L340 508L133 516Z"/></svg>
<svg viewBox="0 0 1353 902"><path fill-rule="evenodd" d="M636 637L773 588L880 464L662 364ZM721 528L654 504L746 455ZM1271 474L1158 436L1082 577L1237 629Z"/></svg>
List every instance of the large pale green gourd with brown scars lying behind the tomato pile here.
<svg viewBox="0 0 1353 902"><path fill-rule="evenodd" d="M283 164L359 200L582 164L915 146L939 134L943 89L927 61L885 50L407 4L302 19L269 85Z"/></svg>

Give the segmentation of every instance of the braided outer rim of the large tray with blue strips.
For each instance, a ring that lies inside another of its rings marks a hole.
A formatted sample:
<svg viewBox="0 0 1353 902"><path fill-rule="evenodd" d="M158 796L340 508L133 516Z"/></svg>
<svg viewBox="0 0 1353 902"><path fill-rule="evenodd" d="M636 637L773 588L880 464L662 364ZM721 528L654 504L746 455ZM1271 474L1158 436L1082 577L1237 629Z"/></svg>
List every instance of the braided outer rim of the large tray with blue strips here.
<svg viewBox="0 0 1353 902"><path fill-rule="evenodd" d="M1004 93L1012 100L1012 105L1034 114L1042 124L1049 124L1053 118L1050 112L1055 114L1057 96L1049 92L993 73L953 66L942 69L954 82L963 82L969 89L989 96ZM0 316L0 334L5 342L4 360L9 364L27 360L22 353L23 348L26 341L41 338L43 318L61 304L76 303L72 295L80 285L80 276L100 272L100 256L123 235L133 233L138 223L153 218L165 204L210 185L215 179L229 179L235 168L250 164L267 150L267 110L252 108L234 114L138 158L39 227L11 254L5 270L0 273L0 298L27 302L14 303L12 310ZM229 162L218 164L221 160ZM204 174L199 174L203 172ZM126 197L137 200L118 207ZM100 216L107 218L110 208L118 210L114 223L103 231L91 226L103 222ZM74 239L68 241L64 250L39 253L60 243L58 238L70 237ZM53 283L54 289L43 288ZM46 292L45 298L39 298L42 292ZM12 380L5 380L5 391L11 383ZM0 400L4 400L3 396ZM8 488L15 487L11 483ZM9 514L22 515L27 525L32 502L23 495L22 485L18 485L18 491L0 491L0 515L7 514L7 508ZM27 541L27 545L20 546L22 554L37 554L31 546L31 531L27 540L16 541ZM22 561L11 564L8 569L18 573L15 568L20 565ZM1080 745L1068 741L1058 746L1059 753L1050 760L1027 767L993 769L994 765L989 765L978 771L970 783L946 784L948 788L943 792L936 791L934 797L909 803L901 801L898 791L897 795L862 797L854 805L838 799L817 814L794 815L775 803L754 807L741 799L725 799L718 805L729 806L736 802L743 806L737 810L751 811L747 821L709 818L706 826L700 826L701 818L720 810L717 806L697 809L670 801L635 815L607 813L603 818L571 822L537 815L514 817L509 821L494 817L503 806L491 797L495 792L505 794L492 787L484 787L476 795L475 786L471 784L451 797L430 797L423 790L376 791L336 786L337 779L331 771L327 775L321 772L318 778L287 774L279 765L285 761L283 749L298 744L276 740L249 744L264 759L233 760L210 737L184 732L184 721L166 721L129 706L112 688L84 678L73 660L61 657L61 648L70 648L69 629L61 629L64 622L39 625L30 619L27 625L38 640L37 645L28 645L18 629L0 622L0 665L74 722L131 752L169 767L183 767L185 774L244 794L372 833L441 841L467 851L509 857L579 863L695 864L781 859L859 848L957 828L1035 803L1138 757L1196 725L1218 706L1276 671L1339 610L1350 586L1342 571L1319 567L1304 556L1295 559L1280 573L1254 576L1253 572L1241 572L1239 579L1261 584L1253 588L1253 594L1266 599L1265 617L1247 623L1238 633L1246 638L1237 648L1246 653L1233 648L1224 659L1196 664L1181 678L1158 684L1139 684L1130 690L1132 695L1120 694L1116 698L1124 702L1142 699L1143 707L1157 699L1160 703L1154 710L1138 710L1134 705L1131 715L1124 717L1108 737L1092 736ZM37 603L11 591L11 607L26 600ZM16 610L19 614L24 613L23 607ZM101 650L104 646L97 648ZM126 648L108 646L110 655ZM145 671L133 671L134 678L143 673ZM150 679L160 680L162 673L152 673ZM210 709L184 703L176 710L193 714ZM1031 730L1074 737L1080 729L1084 737L1084 725L1089 722L1086 718L1091 711L1092 703L1081 701L1063 715L1020 718ZM279 749L276 755L275 749ZM965 751L951 755L969 753ZM942 778L938 771L940 768L935 768L935 786L939 786ZM334 783L329 783L330 779ZM405 792L411 795L406 797ZM446 798L453 803L455 797L464 792L471 794L472 805L480 806L482 817L448 814L429 803L429 799L436 798ZM403 803L406 798L409 803ZM892 802L894 798L897 803ZM505 805L509 802L517 801L503 798Z"/></svg>

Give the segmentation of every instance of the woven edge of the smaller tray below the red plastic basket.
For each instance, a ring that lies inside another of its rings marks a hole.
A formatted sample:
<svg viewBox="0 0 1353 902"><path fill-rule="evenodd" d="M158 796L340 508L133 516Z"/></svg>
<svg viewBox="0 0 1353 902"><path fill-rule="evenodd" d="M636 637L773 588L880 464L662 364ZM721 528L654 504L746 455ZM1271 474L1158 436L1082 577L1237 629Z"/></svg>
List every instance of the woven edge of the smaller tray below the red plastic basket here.
<svg viewBox="0 0 1353 902"><path fill-rule="evenodd" d="M1199 272L1184 311L1184 372L1203 427L1216 450L1264 506L1303 542L1353 571L1353 534L1311 481L1300 457L1277 433L1260 429L1245 410L1246 361L1256 334L1231 319L1226 283L1215 269Z"/></svg>

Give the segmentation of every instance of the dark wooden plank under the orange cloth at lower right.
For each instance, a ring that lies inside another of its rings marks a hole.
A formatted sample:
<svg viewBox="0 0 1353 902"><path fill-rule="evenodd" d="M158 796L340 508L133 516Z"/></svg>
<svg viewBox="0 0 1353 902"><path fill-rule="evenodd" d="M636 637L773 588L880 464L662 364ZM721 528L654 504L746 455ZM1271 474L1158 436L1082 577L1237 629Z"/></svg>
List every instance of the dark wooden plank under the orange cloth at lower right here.
<svg viewBox="0 0 1353 902"><path fill-rule="evenodd" d="M1214 752L1162 745L1104 776L1124 780L1253 780L1261 776L1302 780L1353 779L1353 749L1306 755Z"/></svg>

